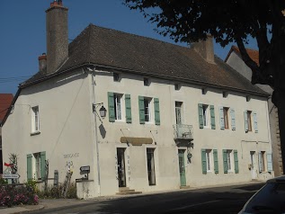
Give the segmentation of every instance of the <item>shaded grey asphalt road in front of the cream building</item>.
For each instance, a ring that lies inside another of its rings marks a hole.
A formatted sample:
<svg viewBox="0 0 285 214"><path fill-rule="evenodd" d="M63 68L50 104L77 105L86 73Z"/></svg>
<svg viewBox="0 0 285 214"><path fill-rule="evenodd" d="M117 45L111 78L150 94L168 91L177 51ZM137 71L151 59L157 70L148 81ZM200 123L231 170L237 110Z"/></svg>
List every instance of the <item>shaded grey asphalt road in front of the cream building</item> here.
<svg viewBox="0 0 285 214"><path fill-rule="evenodd" d="M142 194L109 201L91 201L33 213L171 214L237 213L263 183L200 190Z"/></svg>

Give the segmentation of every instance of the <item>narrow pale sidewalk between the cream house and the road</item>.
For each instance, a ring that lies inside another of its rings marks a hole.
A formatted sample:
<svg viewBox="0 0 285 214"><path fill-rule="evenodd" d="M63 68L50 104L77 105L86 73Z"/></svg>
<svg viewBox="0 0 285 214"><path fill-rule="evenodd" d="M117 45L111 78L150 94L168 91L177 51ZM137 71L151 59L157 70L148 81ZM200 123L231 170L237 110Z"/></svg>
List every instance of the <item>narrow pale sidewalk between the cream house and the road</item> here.
<svg viewBox="0 0 285 214"><path fill-rule="evenodd" d="M251 182L253 183L263 183L263 182ZM171 191L159 191L159 192L143 192L141 194L134 194L134 195L113 195L113 196L105 196L99 197L89 200L76 200L76 199L40 199L38 205L22 205L13 208L0 208L0 214L13 214L13 213L32 213L32 211L36 210L49 210L49 209L56 209L59 207L67 207L72 205L82 205L87 204L92 201L108 201L120 198L127 198L127 197L137 197L137 196L147 196L152 194L160 194L166 192L183 192L183 191L191 191L191 190L199 190L199 189L209 189L212 187L222 187L222 186L236 186L242 184L250 184L250 183L234 183L228 185L215 185L215 186L205 186L205 187L198 187L198 188L189 188L189 189L180 189L180 190L171 190Z"/></svg>

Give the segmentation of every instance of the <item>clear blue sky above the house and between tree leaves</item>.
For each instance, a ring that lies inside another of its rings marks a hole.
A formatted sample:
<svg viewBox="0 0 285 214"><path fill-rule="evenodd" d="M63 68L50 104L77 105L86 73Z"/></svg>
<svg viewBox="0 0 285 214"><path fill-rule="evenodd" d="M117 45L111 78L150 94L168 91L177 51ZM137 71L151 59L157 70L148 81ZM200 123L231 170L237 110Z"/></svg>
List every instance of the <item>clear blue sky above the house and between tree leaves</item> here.
<svg viewBox="0 0 285 214"><path fill-rule="evenodd" d="M46 52L45 10L52 0L13 0L0 4L0 94L15 94L18 85L38 71L38 57ZM68 38L73 40L89 23L140 36L173 40L154 31L138 11L130 11L121 0L63 0L68 11ZM249 48L256 49L254 42ZM215 54L225 59L225 49L215 44Z"/></svg>

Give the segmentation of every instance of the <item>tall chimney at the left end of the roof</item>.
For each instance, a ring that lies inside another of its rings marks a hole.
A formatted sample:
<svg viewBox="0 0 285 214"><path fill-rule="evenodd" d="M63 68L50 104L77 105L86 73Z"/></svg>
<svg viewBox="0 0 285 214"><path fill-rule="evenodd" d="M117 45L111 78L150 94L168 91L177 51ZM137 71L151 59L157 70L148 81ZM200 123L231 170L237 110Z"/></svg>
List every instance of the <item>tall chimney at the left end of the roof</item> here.
<svg viewBox="0 0 285 214"><path fill-rule="evenodd" d="M46 10L47 74L56 72L68 57L67 11L61 0Z"/></svg>

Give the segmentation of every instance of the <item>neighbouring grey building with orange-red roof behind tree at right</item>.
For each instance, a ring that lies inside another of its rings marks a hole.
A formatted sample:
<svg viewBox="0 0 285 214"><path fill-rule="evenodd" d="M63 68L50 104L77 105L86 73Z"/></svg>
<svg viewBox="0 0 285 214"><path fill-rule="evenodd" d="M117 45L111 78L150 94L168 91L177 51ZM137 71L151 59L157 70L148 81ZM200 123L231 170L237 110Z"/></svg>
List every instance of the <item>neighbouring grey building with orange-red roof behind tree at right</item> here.
<svg viewBox="0 0 285 214"><path fill-rule="evenodd" d="M250 58L252 58L257 65L259 65L259 53L255 49L246 49ZM241 54L236 46L233 46L228 54L225 62L236 69L242 76L245 76L248 80L252 78L252 70L245 65L245 62L241 58ZM263 89L264 92L272 95L273 89L269 85L257 85ZM272 137L272 165L276 176L283 174L282 167L282 156L281 156L281 138L279 130L278 110L277 107L272 103L272 99L268 100L268 111L270 119L270 129Z"/></svg>

